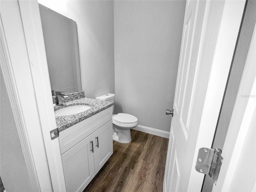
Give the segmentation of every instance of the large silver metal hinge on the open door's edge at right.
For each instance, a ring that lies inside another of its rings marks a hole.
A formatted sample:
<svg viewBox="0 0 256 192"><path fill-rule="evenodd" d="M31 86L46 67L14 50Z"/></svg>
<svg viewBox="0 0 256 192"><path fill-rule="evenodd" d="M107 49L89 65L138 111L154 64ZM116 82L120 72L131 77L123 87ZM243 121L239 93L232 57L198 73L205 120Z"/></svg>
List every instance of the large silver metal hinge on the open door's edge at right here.
<svg viewBox="0 0 256 192"><path fill-rule="evenodd" d="M222 161L220 149L200 148L196 160L196 171L209 175L216 185Z"/></svg>

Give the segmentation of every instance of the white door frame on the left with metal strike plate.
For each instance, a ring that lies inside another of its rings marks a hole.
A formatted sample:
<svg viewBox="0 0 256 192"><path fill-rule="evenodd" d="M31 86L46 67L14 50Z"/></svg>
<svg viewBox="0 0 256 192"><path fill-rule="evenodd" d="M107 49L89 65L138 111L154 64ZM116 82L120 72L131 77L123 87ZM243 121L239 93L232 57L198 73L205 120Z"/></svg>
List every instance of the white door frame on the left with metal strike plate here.
<svg viewBox="0 0 256 192"><path fill-rule="evenodd" d="M1 1L3 7L1 69L29 172L28 185L35 191L66 192L59 141L50 137L56 122L38 2Z"/></svg>

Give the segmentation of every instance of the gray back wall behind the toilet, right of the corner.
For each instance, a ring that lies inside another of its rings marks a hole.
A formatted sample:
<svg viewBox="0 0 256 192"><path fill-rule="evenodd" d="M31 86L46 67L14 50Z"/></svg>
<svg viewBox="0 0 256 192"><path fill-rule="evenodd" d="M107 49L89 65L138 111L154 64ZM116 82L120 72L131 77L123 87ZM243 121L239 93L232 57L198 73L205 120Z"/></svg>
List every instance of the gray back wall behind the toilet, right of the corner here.
<svg viewBox="0 0 256 192"><path fill-rule="evenodd" d="M114 1L115 113L170 131L186 1Z"/></svg>

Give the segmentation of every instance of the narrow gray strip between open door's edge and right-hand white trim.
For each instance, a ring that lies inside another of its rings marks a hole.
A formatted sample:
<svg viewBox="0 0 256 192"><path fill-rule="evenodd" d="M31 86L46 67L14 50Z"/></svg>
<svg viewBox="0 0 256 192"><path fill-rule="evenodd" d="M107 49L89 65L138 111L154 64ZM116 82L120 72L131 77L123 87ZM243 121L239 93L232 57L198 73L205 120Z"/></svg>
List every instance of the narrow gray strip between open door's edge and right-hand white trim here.
<svg viewBox="0 0 256 192"><path fill-rule="evenodd" d="M222 100L222 106L215 130L214 141L212 143L212 148L214 149L219 148L222 150L224 146L224 141L226 140L229 122L234 109L234 104L238 94L238 88L240 86L241 78L244 72L244 66L246 63L246 58L248 55L248 50L254 32L256 20L256 13L254 13L254 10L255 2L246 1L246 5L244 7L244 14L236 43L236 48L232 60L232 66L230 68L228 82L226 84L226 90ZM211 191L213 182L214 181L212 180L212 178L206 175L204 177L202 191Z"/></svg>

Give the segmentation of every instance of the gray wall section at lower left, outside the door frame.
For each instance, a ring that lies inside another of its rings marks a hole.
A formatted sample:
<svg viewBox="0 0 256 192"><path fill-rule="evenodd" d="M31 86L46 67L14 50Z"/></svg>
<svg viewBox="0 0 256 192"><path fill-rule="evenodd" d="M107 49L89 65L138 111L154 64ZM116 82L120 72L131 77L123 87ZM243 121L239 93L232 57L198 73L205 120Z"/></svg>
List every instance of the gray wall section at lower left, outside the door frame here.
<svg viewBox="0 0 256 192"><path fill-rule="evenodd" d="M33 191L9 96L0 71L0 172L6 191ZM9 182L16 181L16 182Z"/></svg>

